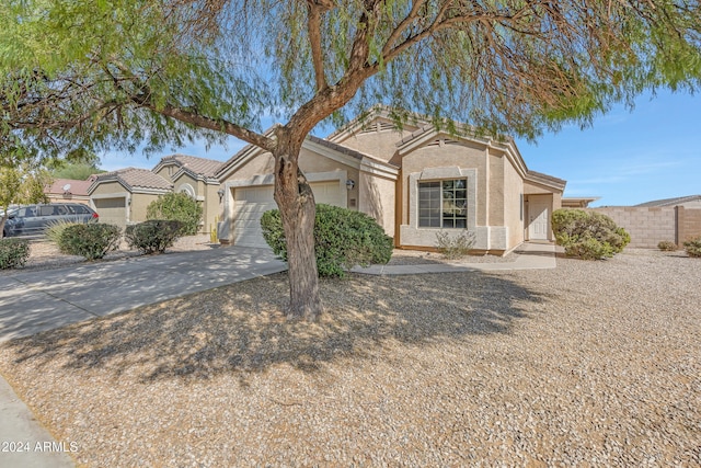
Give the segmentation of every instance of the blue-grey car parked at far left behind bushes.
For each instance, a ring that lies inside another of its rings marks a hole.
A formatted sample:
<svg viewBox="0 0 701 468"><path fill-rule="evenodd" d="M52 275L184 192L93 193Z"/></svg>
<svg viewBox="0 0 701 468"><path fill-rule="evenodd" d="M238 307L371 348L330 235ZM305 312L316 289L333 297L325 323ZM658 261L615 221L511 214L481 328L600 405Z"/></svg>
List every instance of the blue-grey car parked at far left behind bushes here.
<svg viewBox="0 0 701 468"><path fill-rule="evenodd" d="M48 203L45 205L24 205L10 209L2 230L3 237L32 236L57 221L97 222L97 214L80 203Z"/></svg>

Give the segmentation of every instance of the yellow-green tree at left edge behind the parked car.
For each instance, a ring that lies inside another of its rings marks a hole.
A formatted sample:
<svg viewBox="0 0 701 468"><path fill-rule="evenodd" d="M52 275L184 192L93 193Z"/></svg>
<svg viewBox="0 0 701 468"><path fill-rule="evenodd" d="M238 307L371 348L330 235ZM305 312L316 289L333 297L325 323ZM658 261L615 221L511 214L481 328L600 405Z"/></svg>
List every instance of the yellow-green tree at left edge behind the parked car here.
<svg viewBox="0 0 701 468"><path fill-rule="evenodd" d="M50 183L48 171L32 167L27 161L0 165L0 237L8 220L10 206L48 202L44 187Z"/></svg>

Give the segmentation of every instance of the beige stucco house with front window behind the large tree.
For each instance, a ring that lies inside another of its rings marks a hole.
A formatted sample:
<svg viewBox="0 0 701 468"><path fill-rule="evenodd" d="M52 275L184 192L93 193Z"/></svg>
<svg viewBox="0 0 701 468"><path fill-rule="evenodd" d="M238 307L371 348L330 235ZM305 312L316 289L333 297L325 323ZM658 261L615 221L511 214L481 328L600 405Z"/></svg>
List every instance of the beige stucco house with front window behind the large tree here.
<svg viewBox="0 0 701 468"><path fill-rule="evenodd" d="M550 241L565 186L530 171L510 139L451 136L421 121L398 130L384 109L326 139L308 137L299 161L317 203L367 213L405 249L434 249L441 229L469 229L475 252L494 254ZM265 246L260 218L276 208L273 168L253 146L221 165L221 241Z"/></svg>

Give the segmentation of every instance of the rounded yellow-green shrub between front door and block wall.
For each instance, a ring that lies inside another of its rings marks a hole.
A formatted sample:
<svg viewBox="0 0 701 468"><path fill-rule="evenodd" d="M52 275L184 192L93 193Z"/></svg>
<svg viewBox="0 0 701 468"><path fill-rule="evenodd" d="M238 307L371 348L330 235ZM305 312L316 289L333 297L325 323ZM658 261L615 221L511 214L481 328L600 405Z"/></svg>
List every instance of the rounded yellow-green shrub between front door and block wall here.
<svg viewBox="0 0 701 468"><path fill-rule="evenodd" d="M597 260L613 256L631 241L630 235L606 215L583 209L558 209L552 214L558 246L567 256Z"/></svg>

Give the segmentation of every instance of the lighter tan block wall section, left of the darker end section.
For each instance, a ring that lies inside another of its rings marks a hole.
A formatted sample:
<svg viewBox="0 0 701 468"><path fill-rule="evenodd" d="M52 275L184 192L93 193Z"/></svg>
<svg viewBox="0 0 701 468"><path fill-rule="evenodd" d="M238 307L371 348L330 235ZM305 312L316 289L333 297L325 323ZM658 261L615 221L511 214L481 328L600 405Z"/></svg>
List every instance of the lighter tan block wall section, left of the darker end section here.
<svg viewBox="0 0 701 468"><path fill-rule="evenodd" d="M610 217L625 229L631 235L630 247L656 249L660 240L676 242L674 207L607 206L589 209Z"/></svg>

